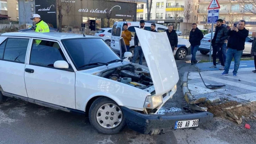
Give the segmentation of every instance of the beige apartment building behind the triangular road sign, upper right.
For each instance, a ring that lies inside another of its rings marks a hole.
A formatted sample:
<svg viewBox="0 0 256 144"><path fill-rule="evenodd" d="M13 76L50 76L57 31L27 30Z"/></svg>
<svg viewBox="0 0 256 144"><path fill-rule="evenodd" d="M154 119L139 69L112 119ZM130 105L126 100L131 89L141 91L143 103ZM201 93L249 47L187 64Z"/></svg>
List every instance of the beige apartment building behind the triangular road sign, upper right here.
<svg viewBox="0 0 256 144"><path fill-rule="evenodd" d="M207 8L211 0L199 0L199 9L197 11L197 25L200 29L206 28ZM245 20L246 26L250 32L256 32L256 16L248 13L239 6L236 0L218 0L220 5L219 18L225 19L226 24L231 26L231 23L237 23L239 20ZM249 6L249 5L248 5ZM247 7L247 6L246 6ZM252 7L252 6L249 6ZM208 24L209 28L211 24Z"/></svg>

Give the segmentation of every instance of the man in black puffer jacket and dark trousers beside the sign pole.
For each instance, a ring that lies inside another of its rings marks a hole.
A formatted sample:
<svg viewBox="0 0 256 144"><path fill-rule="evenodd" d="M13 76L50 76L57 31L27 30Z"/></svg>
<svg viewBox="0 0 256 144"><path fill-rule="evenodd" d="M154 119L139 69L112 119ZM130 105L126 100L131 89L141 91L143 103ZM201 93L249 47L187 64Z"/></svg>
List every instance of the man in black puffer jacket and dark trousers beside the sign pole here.
<svg viewBox="0 0 256 144"><path fill-rule="evenodd" d="M228 38L227 28L222 23L223 23L222 19L217 20L217 24L216 24L217 26L215 27L215 33L212 39L213 65L210 67L210 68L217 68L216 55L218 52L218 57L221 62L221 67L219 68L220 70L223 70L225 67L225 63L223 61L223 56L222 56L222 46L225 40Z"/></svg>

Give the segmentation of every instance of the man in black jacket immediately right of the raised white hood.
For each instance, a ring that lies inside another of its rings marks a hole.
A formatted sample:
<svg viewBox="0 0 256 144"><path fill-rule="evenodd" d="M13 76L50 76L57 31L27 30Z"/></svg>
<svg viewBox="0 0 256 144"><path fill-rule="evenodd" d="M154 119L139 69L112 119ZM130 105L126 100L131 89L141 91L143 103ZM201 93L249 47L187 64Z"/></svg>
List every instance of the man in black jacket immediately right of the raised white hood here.
<svg viewBox="0 0 256 144"><path fill-rule="evenodd" d="M172 52L174 50L177 50L177 46L178 46L178 36L175 30L173 30L173 25L168 25L168 30L166 30L171 48L172 48Z"/></svg>

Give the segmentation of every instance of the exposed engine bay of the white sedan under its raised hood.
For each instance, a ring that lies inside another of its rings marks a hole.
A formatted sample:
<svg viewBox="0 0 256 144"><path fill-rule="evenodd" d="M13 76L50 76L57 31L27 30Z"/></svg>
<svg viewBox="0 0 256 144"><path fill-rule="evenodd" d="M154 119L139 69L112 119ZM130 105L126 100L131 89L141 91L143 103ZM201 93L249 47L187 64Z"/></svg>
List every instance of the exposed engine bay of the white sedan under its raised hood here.
<svg viewBox="0 0 256 144"><path fill-rule="evenodd" d="M135 67L131 64L105 71L101 77L125 83L139 89L146 89L153 85L148 69Z"/></svg>

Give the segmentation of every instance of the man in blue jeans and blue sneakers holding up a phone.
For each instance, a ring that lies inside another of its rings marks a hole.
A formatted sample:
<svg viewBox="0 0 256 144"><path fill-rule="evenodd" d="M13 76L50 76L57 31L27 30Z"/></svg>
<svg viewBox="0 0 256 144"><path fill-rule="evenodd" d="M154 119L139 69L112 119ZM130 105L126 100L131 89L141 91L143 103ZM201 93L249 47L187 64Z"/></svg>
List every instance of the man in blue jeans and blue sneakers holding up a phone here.
<svg viewBox="0 0 256 144"><path fill-rule="evenodd" d="M224 72L221 75L228 75L231 61L234 57L233 76L237 76L237 70L240 64L240 58L243 54L245 39L249 35L249 31L245 29L245 21L240 20L237 27L228 30L227 35L230 36L227 41L227 57Z"/></svg>

